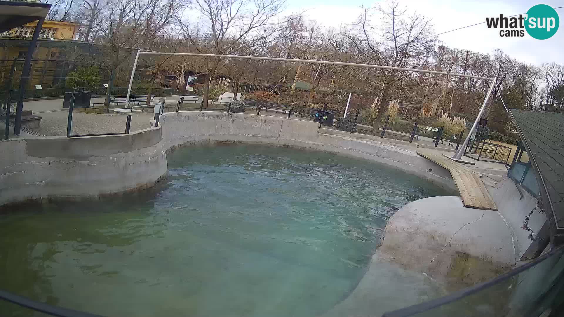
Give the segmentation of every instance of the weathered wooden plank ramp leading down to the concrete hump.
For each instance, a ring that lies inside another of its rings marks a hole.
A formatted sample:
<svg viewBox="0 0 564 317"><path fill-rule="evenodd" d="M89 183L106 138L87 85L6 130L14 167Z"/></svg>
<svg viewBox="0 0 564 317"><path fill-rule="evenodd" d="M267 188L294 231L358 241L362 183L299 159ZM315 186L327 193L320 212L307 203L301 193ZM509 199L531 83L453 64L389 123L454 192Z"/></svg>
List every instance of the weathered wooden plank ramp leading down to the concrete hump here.
<svg viewBox="0 0 564 317"><path fill-rule="evenodd" d="M478 173L433 151L419 149L417 154L428 158L451 172L456 187L459 188L462 204L464 204L465 207L497 210L495 202L490 196L486 186L484 186Z"/></svg>

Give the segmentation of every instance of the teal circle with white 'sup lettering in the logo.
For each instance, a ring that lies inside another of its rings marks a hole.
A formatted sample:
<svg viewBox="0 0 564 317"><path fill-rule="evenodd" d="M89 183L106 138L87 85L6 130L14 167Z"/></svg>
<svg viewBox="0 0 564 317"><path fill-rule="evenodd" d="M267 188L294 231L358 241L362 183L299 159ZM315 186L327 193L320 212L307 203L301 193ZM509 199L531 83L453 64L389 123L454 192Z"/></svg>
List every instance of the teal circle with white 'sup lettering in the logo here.
<svg viewBox="0 0 564 317"><path fill-rule="evenodd" d="M550 38L558 30L560 20L558 14L551 6L536 5L527 11L525 29L536 39Z"/></svg>

